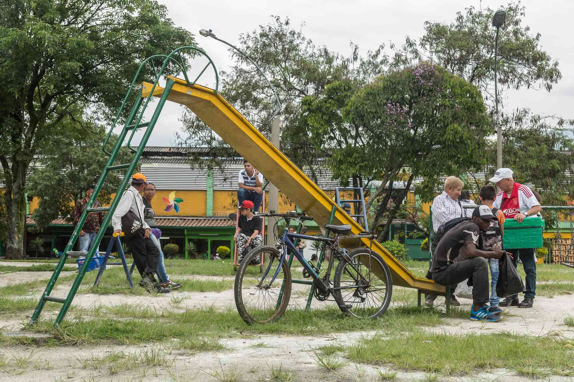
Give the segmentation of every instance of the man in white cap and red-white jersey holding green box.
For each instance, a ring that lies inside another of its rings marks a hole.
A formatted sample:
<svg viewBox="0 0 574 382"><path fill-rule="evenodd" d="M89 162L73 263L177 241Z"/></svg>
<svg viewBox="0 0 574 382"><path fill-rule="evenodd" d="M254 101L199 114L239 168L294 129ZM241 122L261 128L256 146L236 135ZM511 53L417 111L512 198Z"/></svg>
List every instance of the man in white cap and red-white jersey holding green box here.
<svg viewBox="0 0 574 382"><path fill-rule="evenodd" d="M534 192L524 184L514 182L513 172L510 168L499 168L490 182L496 183L501 189L492 205L502 211L506 219L514 219L522 223L524 218L536 215L542 211L540 203ZM518 308L532 308L536 296L536 256L534 248L521 248L508 250L514 257L514 266L517 265L518 256L522 261L526 273L526 293L524 300L518 303L518 294L506 297L500 306L518 306Z"/></svg>

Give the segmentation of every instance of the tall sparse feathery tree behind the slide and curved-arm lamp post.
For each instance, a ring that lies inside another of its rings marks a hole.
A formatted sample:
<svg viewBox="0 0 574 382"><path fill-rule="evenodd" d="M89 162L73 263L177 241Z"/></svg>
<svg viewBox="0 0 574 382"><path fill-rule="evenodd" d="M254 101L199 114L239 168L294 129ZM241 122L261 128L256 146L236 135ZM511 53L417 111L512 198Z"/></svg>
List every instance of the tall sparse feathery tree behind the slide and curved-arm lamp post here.
<svg viewBox="0 0 574 382"><path fill-rule="evenodd" d="M388 58L382 53L383 46L368 52L366 58L359 56L358 46L351 44L351 54L345 57L332 52L327 46L316 46L305 37L301 29L293 29L289 18L272 16L272 22L259 25L257 29L239 37L239 48L257 62L276 89L282 103L281 151L299 167L313 172L324 151L317 152L309 142L308 125L302 119L301 100L321 94L334 81L362 78L362 85L380 74ZM234 66L222 72L222 94L228 101L266 136L270 137L275 98L272 89L249 61L235 50L229 50ZM211 128L193 113L184 112L182 145L215 148L212 153L221 154L228 145L222 137L214 135ZM234 155L234 153L230 153ZM202 160L205 167L219 167L220 159L214 155L193 157L191 163Z"/></svg>

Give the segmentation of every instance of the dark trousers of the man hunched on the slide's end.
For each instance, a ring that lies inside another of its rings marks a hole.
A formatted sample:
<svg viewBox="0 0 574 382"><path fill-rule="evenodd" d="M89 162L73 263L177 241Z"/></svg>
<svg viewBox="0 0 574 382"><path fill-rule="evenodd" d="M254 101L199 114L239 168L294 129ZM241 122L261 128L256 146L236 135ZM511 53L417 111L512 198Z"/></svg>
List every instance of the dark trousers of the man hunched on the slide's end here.
<svg viewBox="0 0 574 382"><path fill-rule="evenodd" d="M473 257L452 263L444 270L433 273L432 279L440 285L457 285L467 278L472 278L472 300L476 304L486 304L490 301L488 270L487 259Z"/></svg>

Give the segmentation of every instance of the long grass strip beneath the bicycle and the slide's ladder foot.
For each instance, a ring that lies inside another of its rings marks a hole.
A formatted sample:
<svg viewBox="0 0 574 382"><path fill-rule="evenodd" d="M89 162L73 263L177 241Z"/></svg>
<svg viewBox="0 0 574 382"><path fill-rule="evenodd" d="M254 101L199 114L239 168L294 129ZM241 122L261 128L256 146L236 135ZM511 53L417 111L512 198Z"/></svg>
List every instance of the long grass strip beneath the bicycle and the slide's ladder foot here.
<svg viewBox="0 0 574 382"><path fill-rule="evenodd" d="M55 345L130 345L147 342L161 342L166 338L190 340L189 350L196 351L210 344L201 338L249 337L261 334L313 336L328 333L355 332L356 330L381 330L385 332L408 332L418 326L434 326L447 317L437 309L422 309L414 306L390 308L378 320L346 317L338 308L288 310L281 320L270 324L247 326L235 309L225 311L214 308L187 309L183 312L162 310L156 312L145 305L121 304L112 307L96 306L97 317L78 317L66 320L53 333L53 337L33 339L2 337L0 344ZM114 312L117 317L111 316ZM451 309L451 314L456 309ZM465 313L468 316L468 312ZM78 315L80 316L80 315ZM466 317L465 316L465 317ZM144 317L144 318L142 318ZM126 318L128 318L126 320ZM130 318L139 318L132 320ZM52 320L38 320L34 325L24 324L24 329L36 332L51 332ZM49 341L48 341L49 340ZM205 344L207 342L207 345ZM182 342L184 343L184 342ZM199 344L199 345L194 345ZM181 345L184 346L184 345ZM212 348L217 346L211 342Z"/></svg>

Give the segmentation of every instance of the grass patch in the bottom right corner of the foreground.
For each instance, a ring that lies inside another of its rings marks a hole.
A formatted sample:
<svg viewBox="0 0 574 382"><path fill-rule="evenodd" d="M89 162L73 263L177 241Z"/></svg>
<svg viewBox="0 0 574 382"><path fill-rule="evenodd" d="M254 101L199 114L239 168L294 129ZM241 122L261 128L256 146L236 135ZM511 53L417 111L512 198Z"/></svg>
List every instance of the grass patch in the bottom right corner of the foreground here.
<svg viewBox="0 0 574 382"><path fill-rule="evenodd" d="M574 371L572 352L564 342L561 338L506 332L463 335L417 330L360 338L347 349L346 356L356 363L422 371L429 376L469 375L493 368L534 376L540 370Z"/></svg>

